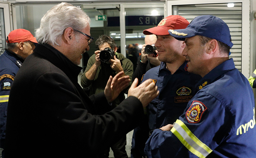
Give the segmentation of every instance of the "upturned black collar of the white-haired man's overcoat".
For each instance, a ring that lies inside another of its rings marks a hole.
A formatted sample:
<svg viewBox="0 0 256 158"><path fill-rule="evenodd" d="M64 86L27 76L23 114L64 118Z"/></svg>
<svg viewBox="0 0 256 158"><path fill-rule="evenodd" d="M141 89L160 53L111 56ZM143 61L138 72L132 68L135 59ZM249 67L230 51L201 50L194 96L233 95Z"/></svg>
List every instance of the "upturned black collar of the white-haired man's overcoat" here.
<svg viewBox="0 0 256 158"><path fill-rule="evenodd" d="M44 56L53 65L62 70L70 78L70 80L78 82L78 74L81 72L82 68L70 61L60 51L53 48L49 44L37 44L34 51L35 53Z"/></svg>

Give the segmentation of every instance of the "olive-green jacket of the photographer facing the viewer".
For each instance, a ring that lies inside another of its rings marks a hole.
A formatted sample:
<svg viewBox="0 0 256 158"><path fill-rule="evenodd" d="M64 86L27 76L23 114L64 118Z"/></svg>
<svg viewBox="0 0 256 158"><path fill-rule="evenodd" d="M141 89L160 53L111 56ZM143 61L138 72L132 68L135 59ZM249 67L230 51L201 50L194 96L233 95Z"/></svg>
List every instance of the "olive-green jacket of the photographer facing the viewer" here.
<svg viewBox="0 0 256 158"><path fill-rule="evenodd" d="M125 88L123 90L123 93L120 93L119 96L116 98L116 100L114 100L112 102L112 107L113 108L116 107L117 105L119 105L120 102L122 102L124 100L124 93L128 93L128 90L129 90L130 86L132 85L132 74L133 74L133 64L132 64L131 60L124 57L121 53L116 53L116 54L117 54L116 57L121 62L121 65L122 65L122 68L124 70L125 75L129 75L131 82L129 83L127 88ZM98 93L104 92L104 89L106 87L109 76L111 75L112 77L114 77L117 74L117 72L114 71L110 67L110 64L101 62L101 65L99 66L99 68L97 70L97 73L95 75L94 80L88 80L88 78L86 78L85 73L95 63L95 56L96 55L93 54L89 58L87 67L85 69L85 72L81 76L81 85L84 88L87 88L91 85L90 96L93 95L93 94L98 94Z"/></svg>

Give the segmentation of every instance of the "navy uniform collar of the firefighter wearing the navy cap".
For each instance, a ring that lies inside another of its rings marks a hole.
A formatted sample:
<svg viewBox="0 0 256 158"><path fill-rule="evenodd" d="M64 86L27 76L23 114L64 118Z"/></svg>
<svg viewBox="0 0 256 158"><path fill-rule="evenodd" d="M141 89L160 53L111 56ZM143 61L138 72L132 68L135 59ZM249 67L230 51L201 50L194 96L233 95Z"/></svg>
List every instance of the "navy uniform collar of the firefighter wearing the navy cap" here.
<svg viewBox="0 0 256 158"><path fill-rule="evenodd" d="M206 85L213 83L214 81L218 80L219 77L230 71L235 69L235 64L232 58L229 60L224 61L220 65L216 66L212 69L209 73L207 73L195 86L197 90L204 88Z"/></svg>

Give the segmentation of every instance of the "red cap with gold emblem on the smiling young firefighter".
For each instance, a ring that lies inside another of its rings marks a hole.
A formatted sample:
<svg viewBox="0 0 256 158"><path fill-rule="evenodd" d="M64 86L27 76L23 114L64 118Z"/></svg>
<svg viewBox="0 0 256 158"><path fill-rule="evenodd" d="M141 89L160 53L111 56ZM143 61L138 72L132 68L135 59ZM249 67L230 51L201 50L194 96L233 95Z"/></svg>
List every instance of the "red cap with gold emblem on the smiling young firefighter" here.
<svg viewBox="0 0 256 158"><path fill-rule="evenodd" d="M170 15L160 21L156 27L152 27L143 31L145 35L158 35L165 36L170 35L168 30L170 29L184 29L188 26L187 19L179 15Z"/></svg>

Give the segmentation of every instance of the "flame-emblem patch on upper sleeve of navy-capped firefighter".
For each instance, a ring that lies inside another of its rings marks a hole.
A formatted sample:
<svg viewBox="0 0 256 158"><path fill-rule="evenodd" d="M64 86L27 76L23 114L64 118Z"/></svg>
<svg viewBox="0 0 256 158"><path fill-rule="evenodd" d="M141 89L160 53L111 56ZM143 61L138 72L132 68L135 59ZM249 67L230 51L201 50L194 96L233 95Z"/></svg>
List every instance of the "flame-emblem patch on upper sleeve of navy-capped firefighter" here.
<svg viewBox="0 0 256 158"><path fill-rule="evenodd" d="M194 100L186 112L186 118L189 123L198 123L207 107L200 101Z"/></svg>

